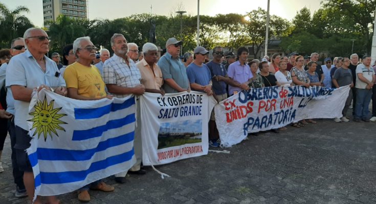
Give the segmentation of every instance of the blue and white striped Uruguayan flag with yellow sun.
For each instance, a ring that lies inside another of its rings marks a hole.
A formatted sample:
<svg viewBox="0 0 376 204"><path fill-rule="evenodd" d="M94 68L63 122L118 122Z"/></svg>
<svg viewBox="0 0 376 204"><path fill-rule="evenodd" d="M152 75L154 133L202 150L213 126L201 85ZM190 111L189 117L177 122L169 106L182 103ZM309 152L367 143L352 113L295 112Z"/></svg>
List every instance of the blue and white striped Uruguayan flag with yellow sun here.
<svg viewBox="0 0 376 204"><path fill-rule="evenodd" d="M35 195L72 192L135 164L135 98L75 100L41 90L29 107Z"/></svg>

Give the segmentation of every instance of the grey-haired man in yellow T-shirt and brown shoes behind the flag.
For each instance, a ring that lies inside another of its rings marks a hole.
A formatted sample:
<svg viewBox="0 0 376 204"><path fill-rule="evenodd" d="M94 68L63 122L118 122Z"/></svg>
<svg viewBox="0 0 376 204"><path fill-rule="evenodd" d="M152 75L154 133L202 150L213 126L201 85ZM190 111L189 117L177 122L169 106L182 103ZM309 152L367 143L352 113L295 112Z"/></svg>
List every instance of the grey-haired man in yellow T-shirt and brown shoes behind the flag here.
<svg viewBox="0 0 376 204"><path fill-rule="evenodd" d="M97 48L90 41L89 37L77 38L73 42L73 53L77 60L67 66L64 72L64 79L67 83L68 96L78 100L98 100L102 98L112 98L107 96L104 90L104 82L97 67L92 65L96 57ZM114 187L102 181L93 182L78 191L78 200L89 202L89 188L104 192L114 191Z"/></svg>

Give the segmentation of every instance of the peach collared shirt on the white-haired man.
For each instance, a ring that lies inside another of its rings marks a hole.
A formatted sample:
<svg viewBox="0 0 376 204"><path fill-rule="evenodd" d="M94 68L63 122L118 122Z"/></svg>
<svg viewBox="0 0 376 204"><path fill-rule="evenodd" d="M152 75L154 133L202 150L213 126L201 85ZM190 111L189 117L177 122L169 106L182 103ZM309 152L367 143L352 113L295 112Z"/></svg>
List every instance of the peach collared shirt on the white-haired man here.
<svg viewBox="0 0 376 204"><path fill-rule="evenodd" d="M151 70L150 65L145 61L145 59L142 59L136 63L136 66L139 68L141 73L141 84L143 84L146 89L161 89L163 77L161 68L159 68L158 64L154 63L154 72Z"/></svg>

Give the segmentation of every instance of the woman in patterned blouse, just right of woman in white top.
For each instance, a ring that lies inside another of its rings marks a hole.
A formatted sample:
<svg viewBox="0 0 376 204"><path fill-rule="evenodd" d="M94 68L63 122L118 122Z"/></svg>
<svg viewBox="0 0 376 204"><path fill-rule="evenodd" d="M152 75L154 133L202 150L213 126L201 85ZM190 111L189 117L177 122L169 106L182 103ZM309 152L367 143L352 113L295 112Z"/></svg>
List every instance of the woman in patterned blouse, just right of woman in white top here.
<svg viewBox="0 0 376 204"><path fill-rule="evenodd" d="M294 85L301 85L309 88L309 78L307 76L307 72L304 70L303 66L304 58L303 56L299 55L295 58L295 67L291 69L291 78L293 79ZM298 123L293 123L294 127L297 126L304 126L304 124L308 124L305 119L301 120Z"/></svg>

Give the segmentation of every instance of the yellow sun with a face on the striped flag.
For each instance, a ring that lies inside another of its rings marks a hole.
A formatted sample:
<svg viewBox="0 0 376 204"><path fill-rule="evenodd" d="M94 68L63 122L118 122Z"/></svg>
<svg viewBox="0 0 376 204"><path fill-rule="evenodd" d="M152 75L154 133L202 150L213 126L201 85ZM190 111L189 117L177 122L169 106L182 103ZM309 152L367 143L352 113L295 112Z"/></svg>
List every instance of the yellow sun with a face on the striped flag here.
<svg viewBox="0 0 376 204"><path fill-rule="evenodd" d="M40 100L37 101L36 105L34 106L35 111L29 113L32 115L33 118L28 120L33 122L33 126L30 130L36 128L33 137L38 133L38 139L41 134L47 140L47 136L50 135L52 139L52 133L55 133L57 137L56 129L62 130L65 132L65 129L61 127L59 124L68 124L64 121L59 120L59 118L66 116L67 114L58 114L62 107L54 109L54 100L51 100L50 105L48 105L47 98L43 99L43 102Z"/></svg>

